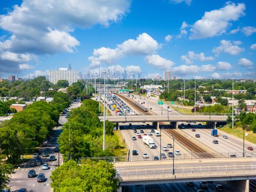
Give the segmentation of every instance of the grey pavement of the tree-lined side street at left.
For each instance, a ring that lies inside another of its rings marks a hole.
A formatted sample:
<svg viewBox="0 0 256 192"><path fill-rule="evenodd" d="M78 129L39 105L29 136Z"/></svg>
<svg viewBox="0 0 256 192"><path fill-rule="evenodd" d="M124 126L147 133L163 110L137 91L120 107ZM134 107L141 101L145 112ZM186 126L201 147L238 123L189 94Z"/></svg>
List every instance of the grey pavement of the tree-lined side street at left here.
<svg viewBox="0 0 256 192"><path fill-rule="evenodd" d="M81 103L72 103L69 107L70 109L81 106ZM49 163L49 170L42 170L41 166L35 166L31 168L21 168L16 169L15 174L11 175L10 183L7 185L11 187L12 191L17 191L20 188L26 188L28 191L33 192L50 192L52 188L50 187L50 175L52 171L54 171L58 167L58 153L54 152L53 149L57 144L57 139L61 133L61 127L63 124L67 123L67 118L64 115L61 115L59 118L59 123L61 126L55 127L53 129L53 136L49 141L49 144L45 148L41 148L42 151L47 151L50 155L55 155L57 161L49 162L49 157L43 157L43 163ZM60 155L60 165L63 164L62 155ZM28 171L34 169L36 174L44 173L46 181L45 182L37 182L37 178L28 178Z"/></svg>

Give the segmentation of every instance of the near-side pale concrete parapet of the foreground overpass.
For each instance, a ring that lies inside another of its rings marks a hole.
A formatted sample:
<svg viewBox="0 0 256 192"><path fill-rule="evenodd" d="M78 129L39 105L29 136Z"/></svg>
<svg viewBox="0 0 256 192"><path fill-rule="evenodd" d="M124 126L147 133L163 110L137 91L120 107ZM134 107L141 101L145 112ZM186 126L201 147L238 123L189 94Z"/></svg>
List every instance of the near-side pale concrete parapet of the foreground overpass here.
<svg viewBox="0 0 256 192"><path fill-rule="evenodd" d="M237 163L222 165L193 165L193 166L175 166L175 176L179 178L199 178L203 176L231 176L231 175L250 175L255 174L255 163ZM172 166L157 167L130 167L121 168L117 171L117 177L121 181L138 181L147 179L174 179ZM171 175L171 177L170 177ZM175 177L177 179L177 177Z"/></svg>

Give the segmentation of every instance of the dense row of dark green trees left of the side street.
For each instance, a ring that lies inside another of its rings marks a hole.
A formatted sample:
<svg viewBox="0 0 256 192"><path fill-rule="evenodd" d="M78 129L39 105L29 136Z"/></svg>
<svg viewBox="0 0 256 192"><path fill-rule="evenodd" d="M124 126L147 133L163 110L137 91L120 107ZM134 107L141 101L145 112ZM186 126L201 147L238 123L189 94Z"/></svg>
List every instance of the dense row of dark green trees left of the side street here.
<svg viewBox="0 0 256 192"><path fill-rule="evenodd" d="M0 126L1 153L7 162L20 162L20 156L31 153L58 125L59 113L51 104L37 101L13 115Z"/></svg>

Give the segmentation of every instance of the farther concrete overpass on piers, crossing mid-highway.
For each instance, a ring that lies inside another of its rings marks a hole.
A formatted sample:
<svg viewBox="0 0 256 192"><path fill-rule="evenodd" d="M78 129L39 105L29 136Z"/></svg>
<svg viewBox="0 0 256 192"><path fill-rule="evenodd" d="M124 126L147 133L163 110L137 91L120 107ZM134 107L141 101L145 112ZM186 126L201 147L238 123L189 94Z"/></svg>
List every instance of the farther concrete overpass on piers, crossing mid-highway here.
<svg viewBox="0 0 256 192"><path fill-rule="evenodd" d="M100 121L103 117L99 116ZM134 115L134 116L108 116L108 121L116 123L138 123L153 122L155 129L158 128L158 122L170 122L170 125L177 128L178 122L206 122L206 125L216 127L217 123L226 123L227 116L218 115Z"/></svg>

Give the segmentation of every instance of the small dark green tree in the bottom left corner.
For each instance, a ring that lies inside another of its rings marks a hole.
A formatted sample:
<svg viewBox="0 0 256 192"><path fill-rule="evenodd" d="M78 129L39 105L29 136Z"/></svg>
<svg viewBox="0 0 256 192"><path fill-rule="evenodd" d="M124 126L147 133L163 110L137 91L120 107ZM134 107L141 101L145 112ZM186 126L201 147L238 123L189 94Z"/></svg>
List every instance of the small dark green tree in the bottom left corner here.
<svg viewBox="0 0 256 192"><path fill-rule="evenodd" d="M14 172L14 167L10 164L0 164L0 188L6 187L6 184L10 182L11 174Z"/></svg>

